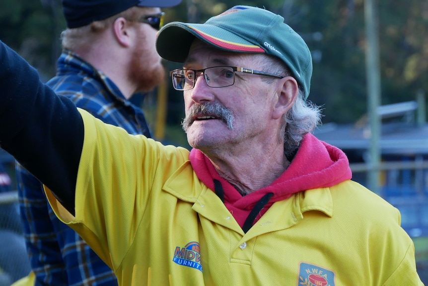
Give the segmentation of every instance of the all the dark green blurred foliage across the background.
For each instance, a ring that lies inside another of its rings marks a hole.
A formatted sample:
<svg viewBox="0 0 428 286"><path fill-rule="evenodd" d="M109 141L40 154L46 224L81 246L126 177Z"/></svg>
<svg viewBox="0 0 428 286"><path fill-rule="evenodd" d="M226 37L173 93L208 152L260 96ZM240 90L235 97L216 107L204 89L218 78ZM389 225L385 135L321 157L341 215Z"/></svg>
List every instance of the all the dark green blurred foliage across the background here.
<svg viewBox="0 0 428 286"><path fill-rule="evenodd" d="M60 0L43 2L1 0L0 39L49 78L65 21ZM238 4L283 15L306 40L315 55L309 99L324 106L325 123L353 123L366 112L364 0L183 0L163 10L166 22L204 22ZM376 7L381 104L413 100L417 90L428 90L428 2L378 0ZM168 70L179 66L165 65ZM184 116L182 94L170 88L168 106L168 123L179 126Z"/></svg>

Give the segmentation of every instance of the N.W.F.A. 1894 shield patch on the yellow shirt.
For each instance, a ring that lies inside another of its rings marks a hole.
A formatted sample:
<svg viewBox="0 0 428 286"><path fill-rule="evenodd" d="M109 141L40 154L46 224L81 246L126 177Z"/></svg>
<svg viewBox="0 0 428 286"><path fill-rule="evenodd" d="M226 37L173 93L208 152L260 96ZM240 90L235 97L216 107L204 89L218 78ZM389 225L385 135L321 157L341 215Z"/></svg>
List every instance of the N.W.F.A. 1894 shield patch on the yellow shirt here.
<svg viewBox="0 0 428 286"><path fill-rule="evenodd" d="M299 286L335 286L334 272L316 265L300 263Z"/></svg>

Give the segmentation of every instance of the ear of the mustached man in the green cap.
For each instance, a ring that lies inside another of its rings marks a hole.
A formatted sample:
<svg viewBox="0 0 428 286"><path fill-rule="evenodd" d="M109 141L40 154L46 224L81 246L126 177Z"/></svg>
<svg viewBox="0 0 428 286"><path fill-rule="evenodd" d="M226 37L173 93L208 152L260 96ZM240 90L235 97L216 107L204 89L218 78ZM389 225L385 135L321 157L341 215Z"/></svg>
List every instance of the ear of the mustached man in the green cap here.
<svg viewBox="0 0 428 286"><path fill-rule="evenodd" d="M278 89L278 101L272 113L274 119L281 118L293 106L299 94L297 82L293 77L279 80Z"/></svg>

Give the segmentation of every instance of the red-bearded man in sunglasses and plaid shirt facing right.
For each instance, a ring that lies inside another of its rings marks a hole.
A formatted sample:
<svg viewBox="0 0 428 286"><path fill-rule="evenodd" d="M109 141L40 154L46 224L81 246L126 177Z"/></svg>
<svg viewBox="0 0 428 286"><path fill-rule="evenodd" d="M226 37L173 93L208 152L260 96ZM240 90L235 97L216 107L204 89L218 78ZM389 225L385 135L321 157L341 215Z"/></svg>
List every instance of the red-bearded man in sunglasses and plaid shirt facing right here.
<svg viewBox="0 0 428 286"><path fill-rule="evenodd" d="M63 52L47 84L102 121L150 137L143 110L129 99L163 80L155 49L160 7L180 1L63 0ZM55 216L42 184L19 164L16 175L32 285L117 285L110 267Z"/></svg>

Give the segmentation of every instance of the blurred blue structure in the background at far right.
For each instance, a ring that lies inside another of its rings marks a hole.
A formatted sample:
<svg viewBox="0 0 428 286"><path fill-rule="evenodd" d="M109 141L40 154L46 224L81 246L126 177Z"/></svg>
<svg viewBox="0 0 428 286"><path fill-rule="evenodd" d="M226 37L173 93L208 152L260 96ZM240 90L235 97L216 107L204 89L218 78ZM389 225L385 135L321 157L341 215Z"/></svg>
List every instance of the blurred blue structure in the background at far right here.
<svg viewBox="0 0 428 286"><path fill-rule="evenodd" d="M415 120L415 111L425 114L425 108L418 105L409 101L378 109L382 118L378 194L400 210L401 225L411 237L428 236L428 124L425 115ZM353 180L367 185L368 122L362 119L354 125L329 123L314 135L341 148L350 160Z"/></svg>

